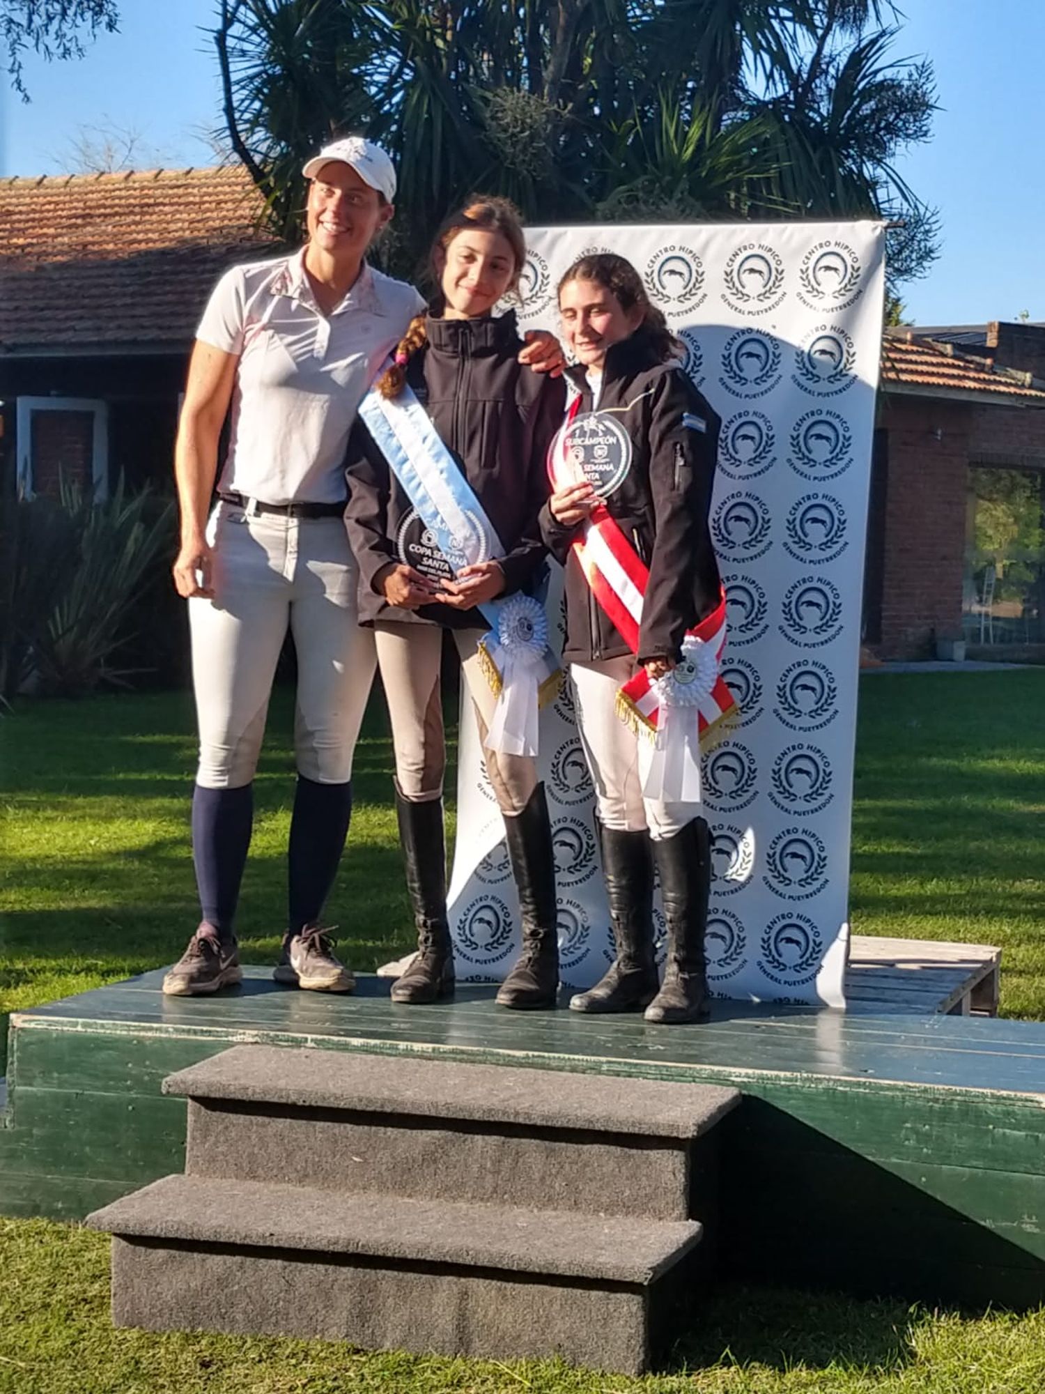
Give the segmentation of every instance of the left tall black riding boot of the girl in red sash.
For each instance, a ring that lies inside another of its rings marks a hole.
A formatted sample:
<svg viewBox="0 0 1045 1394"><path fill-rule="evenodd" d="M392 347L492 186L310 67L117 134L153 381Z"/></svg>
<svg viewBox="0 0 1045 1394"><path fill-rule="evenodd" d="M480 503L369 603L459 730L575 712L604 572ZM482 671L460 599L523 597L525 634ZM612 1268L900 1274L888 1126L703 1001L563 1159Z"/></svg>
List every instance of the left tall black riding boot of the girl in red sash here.
<svg viewBox="0 0 1045 1394"><path fill-rule="evenodd" d="M606 880L613 947L609 972L570 998L574 1012L641 1012L659 986L653 959L653 859L649 834L620 832L595 820Z"/></svg>

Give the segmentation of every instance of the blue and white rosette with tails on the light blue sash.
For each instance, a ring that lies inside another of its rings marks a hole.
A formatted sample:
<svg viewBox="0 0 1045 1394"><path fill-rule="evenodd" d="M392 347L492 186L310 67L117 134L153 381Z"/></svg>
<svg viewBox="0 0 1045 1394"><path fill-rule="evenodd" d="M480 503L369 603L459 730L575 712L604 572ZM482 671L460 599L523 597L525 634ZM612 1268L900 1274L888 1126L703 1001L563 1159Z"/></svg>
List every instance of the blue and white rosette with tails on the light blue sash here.
<svg viewBox="0 0 1045 1394"><path fill-rule="evenodd" d="M518 592L500 601L497 623L483 637L482 648L500 676L486 747L506 756L535 756L541 687L552 672L543 605Z"/></svg>

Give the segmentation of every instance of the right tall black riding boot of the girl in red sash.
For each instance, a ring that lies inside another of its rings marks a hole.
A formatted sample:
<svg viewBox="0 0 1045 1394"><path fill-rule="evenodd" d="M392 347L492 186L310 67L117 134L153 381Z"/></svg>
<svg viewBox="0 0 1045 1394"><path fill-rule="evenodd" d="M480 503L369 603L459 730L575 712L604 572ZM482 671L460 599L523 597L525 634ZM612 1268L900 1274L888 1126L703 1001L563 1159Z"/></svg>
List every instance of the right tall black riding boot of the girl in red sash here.
<svg viewBox="0 0 1045 1394"><path fill-rule="evenodd" d="M660 991L645 1011L648 1022L706 1022L708 960L704 931L711 896L711 829L704 818L673 838L653 842L660 898L667 920L667 962Z"/></svg>

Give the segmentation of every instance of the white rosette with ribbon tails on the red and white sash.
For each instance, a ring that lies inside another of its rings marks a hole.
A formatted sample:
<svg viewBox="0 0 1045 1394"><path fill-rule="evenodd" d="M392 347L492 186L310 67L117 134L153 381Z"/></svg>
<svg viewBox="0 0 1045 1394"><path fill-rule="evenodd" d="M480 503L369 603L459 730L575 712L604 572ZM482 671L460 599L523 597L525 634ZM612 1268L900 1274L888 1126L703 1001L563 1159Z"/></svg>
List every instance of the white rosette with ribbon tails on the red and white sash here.
<svg viewBox="0 0 1045 1394"><path fill-rule="evenodd" d="M681 661L652 683L658 715L653 751L642 778L647 799L701 802L699 705L718 682L719 661L711 644L687 636Z"/></svg>

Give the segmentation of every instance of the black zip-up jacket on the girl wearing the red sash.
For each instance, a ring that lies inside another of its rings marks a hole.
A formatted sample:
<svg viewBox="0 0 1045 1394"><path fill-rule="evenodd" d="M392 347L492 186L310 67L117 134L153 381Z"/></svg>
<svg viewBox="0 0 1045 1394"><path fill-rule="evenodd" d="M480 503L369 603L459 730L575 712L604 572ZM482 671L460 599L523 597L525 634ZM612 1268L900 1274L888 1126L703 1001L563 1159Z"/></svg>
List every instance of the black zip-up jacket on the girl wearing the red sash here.
<svg viewBox="0 0 1045 1394"><path fill-rule="evenodd" d="M570 376L581 389L580 417L592 410L592 393L584 369L571 369ZM658 361L641 329L607 350L598 411L617 421L631 441L630 467L605 503L649 567L638 661L677 659L686 631L719 601L708 509L722 422L677 360ZM545 503L541 533L566 566L563 658L619 658L631 650L588 588L570 548L575 531L552 517Z"/></svg>

